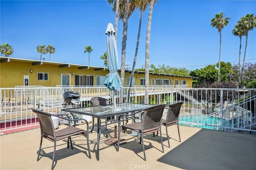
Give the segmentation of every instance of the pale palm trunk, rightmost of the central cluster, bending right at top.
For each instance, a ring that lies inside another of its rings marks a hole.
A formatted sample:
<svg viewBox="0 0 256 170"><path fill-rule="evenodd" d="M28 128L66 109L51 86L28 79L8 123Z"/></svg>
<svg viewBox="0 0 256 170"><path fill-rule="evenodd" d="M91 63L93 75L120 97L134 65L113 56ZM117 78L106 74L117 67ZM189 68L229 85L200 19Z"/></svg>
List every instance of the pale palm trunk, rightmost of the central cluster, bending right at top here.
<svg viewBox="0 0 256 170"><path fill-rule="evenodd" d="M150 46L150 32L151 32L151 21L153 7L157 0L151 0L148 12L148 26L147 26L147 36L146 36L146 52L145 52L145 104L148 104L148 86L149 86L149 46Z"/></svg>

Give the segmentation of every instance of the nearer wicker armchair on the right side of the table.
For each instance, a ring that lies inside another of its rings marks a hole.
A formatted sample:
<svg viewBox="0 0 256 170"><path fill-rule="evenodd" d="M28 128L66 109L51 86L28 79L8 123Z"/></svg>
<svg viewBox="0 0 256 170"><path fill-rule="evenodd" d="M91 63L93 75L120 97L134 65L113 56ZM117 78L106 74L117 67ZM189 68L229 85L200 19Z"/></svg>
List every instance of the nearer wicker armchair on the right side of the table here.
<svg viewBox="0 0 256 170"><path fill-rule="evenodd" d="M143 152L144 152L144 160L146 160L146 153L145 153L144 141L143 141L144 134L154 133L154 132L158 132L160 130L162 150L164 153L164 145L163 145L162 131L161 131L161 120L162 120L162 115L163 115L165 106L166 105L155 105L148 109L142 109L140 111L137 111L133 114L135 115L138 112L142 112L141 122L122 125L123 130L130 129L130 130L134 130L135 132L140 133L140 144L142 143L142 148L143 148ZM119 127L120 127L121 117L122 116L120 116L118 119ZM119 150L119 145L120 145L120 128L118 130L117 150Z"/></svg>

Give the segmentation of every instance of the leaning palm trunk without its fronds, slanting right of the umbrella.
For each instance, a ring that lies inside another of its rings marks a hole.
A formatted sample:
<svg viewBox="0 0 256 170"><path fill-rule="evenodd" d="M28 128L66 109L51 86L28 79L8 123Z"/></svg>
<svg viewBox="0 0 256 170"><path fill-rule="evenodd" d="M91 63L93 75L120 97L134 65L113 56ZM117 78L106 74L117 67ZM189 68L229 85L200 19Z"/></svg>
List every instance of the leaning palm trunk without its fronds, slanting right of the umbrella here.
<svg viewBox="0 0 256 170"><path fill-rule="evenodd" d="M133 65L132 65L132 73L131 73L131 77L130 77L130 81L129 81L129 87L132 87L132 79L133 79L134 69L135 69L135 65L136 65L136 61L137 61L138 48L139 48L139 42L140 42L140 30L141 30L141 23L142 23L142 14L143 14L143 12L141 10L140 11L140 23L139 23L137 44L136 44L136 50L135 50ZM128 102L130 102L130 88L128 89L127 99L128 99Z"/></svg>

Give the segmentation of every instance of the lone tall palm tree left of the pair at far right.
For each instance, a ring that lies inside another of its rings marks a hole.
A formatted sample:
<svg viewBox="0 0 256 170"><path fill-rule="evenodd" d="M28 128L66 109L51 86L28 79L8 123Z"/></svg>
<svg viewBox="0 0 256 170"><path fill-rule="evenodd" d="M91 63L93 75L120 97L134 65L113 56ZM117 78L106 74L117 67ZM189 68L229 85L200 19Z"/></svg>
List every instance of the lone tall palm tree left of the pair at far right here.
<svg viewBox="0 0 256 170"><path fill-rule="evenodd" d="M214 28L217 28L218 32L220 33L220 54L221 54L221 30L224 28L224 26L228 25L228 20L230 20L229 17L224 17L225 15L223 12L220 12L220 14L215 14L215 18L212 18L211 20L211 26ZM217 81L220 82L220 54L219 54L219 65L218 65L218 76Z"/></svg>

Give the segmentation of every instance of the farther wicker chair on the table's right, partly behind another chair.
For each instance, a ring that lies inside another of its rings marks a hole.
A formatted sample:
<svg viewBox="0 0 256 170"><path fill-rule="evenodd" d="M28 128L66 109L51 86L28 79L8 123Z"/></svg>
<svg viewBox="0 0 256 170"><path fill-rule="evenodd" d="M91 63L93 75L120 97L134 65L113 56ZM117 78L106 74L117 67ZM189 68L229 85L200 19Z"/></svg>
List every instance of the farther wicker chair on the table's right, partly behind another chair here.
<svg viewBox="0 0 256 170"><path fill-rule="evenodd" d="M180 101L180 102L172 103L172 104L166 106L166 108L168 109L167 114L166 114L166 119L162 119L162 125L164 125L166 127L166 135L167 135L169 148L170 148L170 142L169 142L169 135L168 135L168 127L170 127L172 125L177 125L178 134L179 134L179 138L180 138L180 130L179 130L178 123L179 123L180 107L182 104L183 104L183 102ZM158 132L157 132L156 136L157 135L158 135ZM179 142L181 142L181 140Z"/></svg>

